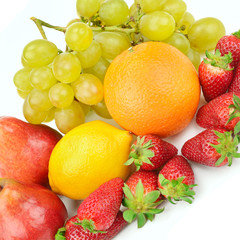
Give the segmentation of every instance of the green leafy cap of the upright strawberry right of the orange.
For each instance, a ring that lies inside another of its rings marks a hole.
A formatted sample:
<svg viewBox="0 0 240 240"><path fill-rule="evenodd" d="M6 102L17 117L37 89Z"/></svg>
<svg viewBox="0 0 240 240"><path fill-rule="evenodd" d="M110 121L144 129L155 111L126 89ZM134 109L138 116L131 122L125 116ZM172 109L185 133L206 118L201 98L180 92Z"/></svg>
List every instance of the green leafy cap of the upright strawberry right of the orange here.
<svg viewBox="0 0 240 240"><path fill-rule="evenodd" d="M233 61L232 53L229 52L224 56L221 56L219 49L216 50L215 54L206 51L206 57L203 61L206 64L210 64L213 67L219 67L226 71L232 71L233 68L229 68L229 64Z"/></svg>

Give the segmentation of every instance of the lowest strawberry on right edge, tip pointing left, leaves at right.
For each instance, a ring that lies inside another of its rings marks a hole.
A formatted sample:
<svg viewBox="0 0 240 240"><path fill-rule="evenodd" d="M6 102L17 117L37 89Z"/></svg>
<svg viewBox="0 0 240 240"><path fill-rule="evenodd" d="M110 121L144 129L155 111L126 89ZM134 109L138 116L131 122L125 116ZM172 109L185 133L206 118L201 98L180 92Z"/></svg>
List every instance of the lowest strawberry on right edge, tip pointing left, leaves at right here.
<svg viewBox="0 0 240 240"><path fill-rule="evenodd" d="M188 160L211 167L232 164L233 157L239 157L239 139L232 132L223 129L207 129L189 139L182 147L182 154Z"/></svg>

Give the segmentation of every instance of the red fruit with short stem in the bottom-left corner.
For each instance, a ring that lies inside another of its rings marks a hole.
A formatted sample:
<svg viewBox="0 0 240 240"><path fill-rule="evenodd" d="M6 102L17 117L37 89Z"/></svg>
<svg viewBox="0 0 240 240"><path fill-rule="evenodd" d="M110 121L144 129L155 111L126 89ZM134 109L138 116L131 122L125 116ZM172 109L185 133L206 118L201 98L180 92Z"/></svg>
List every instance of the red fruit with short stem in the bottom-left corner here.
<svg viewBox="0 0 240 240"><path fill-rule="evenodd" d="M54 240L66 219L64 204L47 188L0 179L0 240Z"/></svg>

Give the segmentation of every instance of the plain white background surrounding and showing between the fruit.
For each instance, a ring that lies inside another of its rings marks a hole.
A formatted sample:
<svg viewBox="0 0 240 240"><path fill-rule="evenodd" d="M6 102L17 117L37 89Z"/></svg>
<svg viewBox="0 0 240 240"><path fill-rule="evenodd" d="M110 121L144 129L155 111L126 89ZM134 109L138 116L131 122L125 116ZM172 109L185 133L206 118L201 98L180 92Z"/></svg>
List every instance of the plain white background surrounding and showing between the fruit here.
<svg viewBox="0 0 240 240"><path fill-rule="evenodd" d="M129 5L133 0L127 1ZM185 1L188 11L196 19L217 17L227 33L240 28L238 0ZM35 16L53 25L65 26L76 18L75 0L0 0L0 116L14 116L24 120L23 100L17 95L13 76L21 68L23 47L31 40L41 38L36 26L29 20ZM49 40L64 49L62 33L46 30ZM201 100L200 105L204 103ZM54 126L54 124L51 124ZM183 143L202 131L194 120L181 134L167 139L180 153ZM164 204L165 211L153 222L137 229L136 222L129 225L115 239L240 239L240 163L235 159L232 167L210 168L192 164L195 172L196 198L192 205L181 202ZM69 215L76 214L78 202L63 198ZM73 208L75 207L75 208ZM17 229L16 229L17 231Z"/></svg>

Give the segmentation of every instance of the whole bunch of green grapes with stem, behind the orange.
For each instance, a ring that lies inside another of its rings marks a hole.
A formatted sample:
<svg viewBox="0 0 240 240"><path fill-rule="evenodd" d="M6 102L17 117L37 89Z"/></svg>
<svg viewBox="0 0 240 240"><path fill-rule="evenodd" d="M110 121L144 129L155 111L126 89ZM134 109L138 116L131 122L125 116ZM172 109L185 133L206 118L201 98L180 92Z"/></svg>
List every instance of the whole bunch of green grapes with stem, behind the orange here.
<svg viewBox="0 0 240 240"><path fill-rule="evenodd" d="M85 122L90 110L111 118L103 97L103 79L110 62L131 46L148 41L168 43L189 57L194 66L200 54L215 48L225 34L221 21L195 21L182 0L77 0L79 18L66 27L32 18L43 39L28 43L14 76L25 99L23 114L33 124L55 120L67 133ZM210 27L209 27L210 26ZM43 27L65 34L66 50L47 40Z"/></svg>

